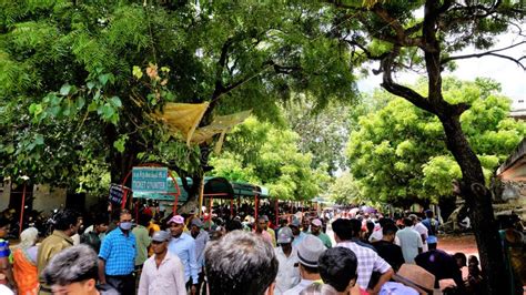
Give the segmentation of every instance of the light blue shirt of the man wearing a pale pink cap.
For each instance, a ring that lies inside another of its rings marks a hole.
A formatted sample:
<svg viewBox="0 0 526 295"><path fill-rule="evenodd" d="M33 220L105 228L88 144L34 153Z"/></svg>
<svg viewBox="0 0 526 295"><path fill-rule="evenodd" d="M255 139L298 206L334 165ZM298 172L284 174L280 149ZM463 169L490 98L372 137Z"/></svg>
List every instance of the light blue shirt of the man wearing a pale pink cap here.
<svg viewBox="0 0 526 295"><path fill-rule="evenodd" d="M108 237L107 237L108 238ZM178 255L184 266L184 281L189 282L192 276L193 284L198 284L199 265L195 257L195 241L186 233L180 237L172 237L168 244L168 251L172 255Z"/></svg>

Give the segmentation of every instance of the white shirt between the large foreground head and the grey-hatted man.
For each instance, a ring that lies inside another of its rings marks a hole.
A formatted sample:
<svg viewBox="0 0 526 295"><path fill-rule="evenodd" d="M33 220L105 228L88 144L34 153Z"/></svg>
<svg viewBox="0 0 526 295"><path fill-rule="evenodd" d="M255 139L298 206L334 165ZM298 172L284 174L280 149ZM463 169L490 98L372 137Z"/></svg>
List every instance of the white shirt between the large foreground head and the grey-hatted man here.
<svg viewBox="0 0 526 295"><path fill-rule="evenodd" d="M292 252L289 257L285 256L282 247L275 247L274 253L280 263L274 294L280 295L297 285L301 281L300 268L294 267L294 264L297 263L297 250L292 246Z"/></svg>

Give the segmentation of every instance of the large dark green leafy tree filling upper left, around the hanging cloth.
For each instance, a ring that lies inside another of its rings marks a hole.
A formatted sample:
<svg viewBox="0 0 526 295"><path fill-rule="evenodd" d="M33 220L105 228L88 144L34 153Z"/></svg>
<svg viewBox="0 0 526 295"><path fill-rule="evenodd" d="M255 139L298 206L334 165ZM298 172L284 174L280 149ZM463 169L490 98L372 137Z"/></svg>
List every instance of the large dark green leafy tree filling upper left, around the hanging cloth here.
<svg viewBox="0 0 526 295"><path fill-rule="evenodd" d="M206 125L246 109L272 119L292 92L354 100L350 55L320 38L317 6L145 3L0 4L2 174L75 187L85 166L121 182L156 161L193 179L195 201L211 143L168 133L150 116L164 103L210 102Z"/></svg>

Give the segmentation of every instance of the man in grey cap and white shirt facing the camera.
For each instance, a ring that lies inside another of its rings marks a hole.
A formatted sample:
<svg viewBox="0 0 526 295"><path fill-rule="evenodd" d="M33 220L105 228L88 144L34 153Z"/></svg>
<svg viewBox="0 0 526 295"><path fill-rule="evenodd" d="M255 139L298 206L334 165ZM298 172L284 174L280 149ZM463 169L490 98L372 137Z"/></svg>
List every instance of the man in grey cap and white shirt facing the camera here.
<svg viewBox="0 0 526 295"><path fill-rule="evenodd" d="M181 260L168 252L170 233L153 233L154 255L144 262L139 282L139 295L186 294Z"/></svg>

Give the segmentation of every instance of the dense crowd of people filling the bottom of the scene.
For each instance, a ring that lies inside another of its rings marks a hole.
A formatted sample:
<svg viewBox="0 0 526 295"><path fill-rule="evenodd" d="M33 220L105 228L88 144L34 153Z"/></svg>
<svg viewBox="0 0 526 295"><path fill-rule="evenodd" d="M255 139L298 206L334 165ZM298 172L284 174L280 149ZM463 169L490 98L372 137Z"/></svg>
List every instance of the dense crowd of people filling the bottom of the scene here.
<svg viewBox="0 0 526 295"><path fill-rule="evenodd" d="M476 256L439 250L432 211L399 221L307 211L279 224L222 212L122 210L84 228L84 217L63 210L49 236L38 243L28 227L14 247L0 217L0 294L479 294L484 283ZM512 250L524 235L512 220L503 224L509 284L522 291L524 265Z"/></svg>

